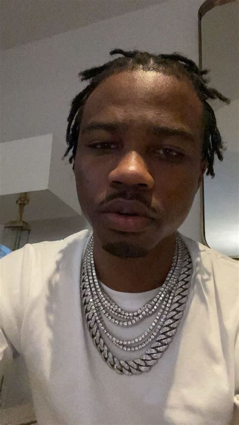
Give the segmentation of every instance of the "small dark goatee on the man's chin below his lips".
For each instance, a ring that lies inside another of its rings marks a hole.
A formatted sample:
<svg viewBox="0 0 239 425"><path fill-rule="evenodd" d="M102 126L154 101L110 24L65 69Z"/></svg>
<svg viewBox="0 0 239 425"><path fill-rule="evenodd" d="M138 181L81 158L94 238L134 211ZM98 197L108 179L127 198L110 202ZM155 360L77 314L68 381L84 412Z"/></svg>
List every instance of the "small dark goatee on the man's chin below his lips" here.
<svg viewBox="0 0 239 425"><path fill-rule="evenodd" d="M129 242L109 242L102 245L102 248L109 254L120 258L142 258L149 253L147 249Z"/></svg>

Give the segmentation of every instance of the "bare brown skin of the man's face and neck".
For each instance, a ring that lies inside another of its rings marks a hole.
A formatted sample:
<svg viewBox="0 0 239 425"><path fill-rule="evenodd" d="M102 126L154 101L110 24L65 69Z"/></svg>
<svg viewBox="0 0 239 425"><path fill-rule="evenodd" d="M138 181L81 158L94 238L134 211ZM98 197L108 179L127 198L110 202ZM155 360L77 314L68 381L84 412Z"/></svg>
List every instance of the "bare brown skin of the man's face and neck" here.
<svg viewBox="0 0 239 425"><path fill-rule="evenodd" d="M206 171L202 117L202 102L187 78L155 71L114 74L88 97L75 177L82 211L93 228L97 278L109 288L143 292L163 284L177 229ZM93 121L118 125L86 131ZM142 231L118 232L99 212L111 199L128 196L153 215Z"/></svg>

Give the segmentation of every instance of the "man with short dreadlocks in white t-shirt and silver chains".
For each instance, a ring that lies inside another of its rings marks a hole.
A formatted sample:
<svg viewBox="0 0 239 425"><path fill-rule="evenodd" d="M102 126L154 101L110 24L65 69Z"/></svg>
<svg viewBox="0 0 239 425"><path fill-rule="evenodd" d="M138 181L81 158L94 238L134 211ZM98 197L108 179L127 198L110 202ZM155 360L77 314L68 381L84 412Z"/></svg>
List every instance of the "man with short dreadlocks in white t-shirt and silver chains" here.
<svg viewBox="0 0 239 425"><path fill-rule="evenodd" d="M24 356L40 424L236 423L237 262L177 232L227 99L180 55L114 53L68 118L92 230L2 259L2 357Z"/></svg>

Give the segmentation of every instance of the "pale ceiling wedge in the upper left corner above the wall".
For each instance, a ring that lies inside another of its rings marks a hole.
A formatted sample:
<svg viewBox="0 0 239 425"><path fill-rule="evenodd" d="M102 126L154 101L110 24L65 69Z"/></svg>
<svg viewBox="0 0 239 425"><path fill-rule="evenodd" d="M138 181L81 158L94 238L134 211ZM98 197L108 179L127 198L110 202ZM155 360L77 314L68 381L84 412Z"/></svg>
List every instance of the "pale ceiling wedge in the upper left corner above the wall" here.
<svg viewBox="0 0 239 425"><path fill-rule="evenodd" d="M145 9L166 0L0 0L0 49Z"/></svg>

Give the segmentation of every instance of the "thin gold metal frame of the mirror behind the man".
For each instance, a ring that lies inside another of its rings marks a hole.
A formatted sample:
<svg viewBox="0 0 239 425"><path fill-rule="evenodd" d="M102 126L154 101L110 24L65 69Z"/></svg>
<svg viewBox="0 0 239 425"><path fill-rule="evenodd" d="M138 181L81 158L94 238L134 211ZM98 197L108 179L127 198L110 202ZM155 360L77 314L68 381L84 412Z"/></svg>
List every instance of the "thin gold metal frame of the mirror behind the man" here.
<svg viewBox="0 0 239 425"><path fill-rule="evenodd" d="M236 0L205 0L198 11L198 44L199 44L199 68L202 70L202 18L211 9L225 5L226 3L235 3ZM211 248L205 235L205 202L204 202L204 178L201 185L201 231L204 245ZM239 260L239 256L230 256L230 258Z"/></svg>

